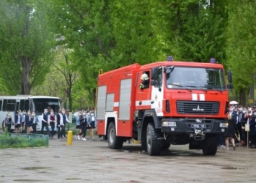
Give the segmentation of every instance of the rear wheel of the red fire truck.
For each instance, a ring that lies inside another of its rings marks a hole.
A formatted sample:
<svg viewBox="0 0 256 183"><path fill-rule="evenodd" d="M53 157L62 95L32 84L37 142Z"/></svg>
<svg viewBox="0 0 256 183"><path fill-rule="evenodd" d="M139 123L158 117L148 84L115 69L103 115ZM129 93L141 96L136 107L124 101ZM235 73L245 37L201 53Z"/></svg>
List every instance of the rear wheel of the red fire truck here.
<svg viewBox="0 0 256 183"><path fill-rule="evenodd" d="M116 136L115 123L111 122L107 129L107 143L110 149L122 149L123 138Z"/></svg>

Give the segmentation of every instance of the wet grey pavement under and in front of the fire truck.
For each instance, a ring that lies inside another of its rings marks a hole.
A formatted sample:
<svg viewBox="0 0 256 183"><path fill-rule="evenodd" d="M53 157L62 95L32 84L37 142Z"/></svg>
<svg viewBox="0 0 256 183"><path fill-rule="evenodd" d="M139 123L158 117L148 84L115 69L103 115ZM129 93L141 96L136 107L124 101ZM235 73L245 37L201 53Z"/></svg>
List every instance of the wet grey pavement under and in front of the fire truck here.
<svg viewBox="0 0 256 183"><path fill-rule="evenodd" d="M121 150L97 140L49 144L0 149L0 182L256 182L256 149L218 149L216 156L203 156L188 146L171 146L161 156L148 156L133 143Z"/></svg>

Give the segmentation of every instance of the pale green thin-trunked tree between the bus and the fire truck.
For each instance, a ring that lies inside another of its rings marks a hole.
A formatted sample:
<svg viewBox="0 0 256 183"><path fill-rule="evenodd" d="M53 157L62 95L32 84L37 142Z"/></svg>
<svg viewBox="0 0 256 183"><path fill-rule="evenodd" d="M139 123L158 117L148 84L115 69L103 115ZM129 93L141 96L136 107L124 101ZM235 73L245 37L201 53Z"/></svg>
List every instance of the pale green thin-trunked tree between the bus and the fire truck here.
<svg viewBox="0 0 256 183"><path fill-rule="evenodd" d="M43 85L32 90L35 95L58 96L62 99L63 108L72 111L72 90L78 82L78 71L72 62L72 50L59 45L56 52L55 62L48 68L50 72L45 77Z"/></svg>

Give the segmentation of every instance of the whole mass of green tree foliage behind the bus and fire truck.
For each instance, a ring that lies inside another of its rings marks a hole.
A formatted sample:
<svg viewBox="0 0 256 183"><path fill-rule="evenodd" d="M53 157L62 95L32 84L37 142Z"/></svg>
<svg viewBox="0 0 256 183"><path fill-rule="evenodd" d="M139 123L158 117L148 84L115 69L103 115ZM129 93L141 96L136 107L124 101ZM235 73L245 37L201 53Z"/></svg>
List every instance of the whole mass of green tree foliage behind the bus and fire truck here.
<svg viewBox="0 0 256 183"><path fill-rule="evenodd" d="M23 91L29 73L32 94L57 95L72 111L93 108L100 69L144 65L168 55L197 62L215 57L233 71L240 95L252 84L254 1L3 0L0 5L0 93Z"/></svg>

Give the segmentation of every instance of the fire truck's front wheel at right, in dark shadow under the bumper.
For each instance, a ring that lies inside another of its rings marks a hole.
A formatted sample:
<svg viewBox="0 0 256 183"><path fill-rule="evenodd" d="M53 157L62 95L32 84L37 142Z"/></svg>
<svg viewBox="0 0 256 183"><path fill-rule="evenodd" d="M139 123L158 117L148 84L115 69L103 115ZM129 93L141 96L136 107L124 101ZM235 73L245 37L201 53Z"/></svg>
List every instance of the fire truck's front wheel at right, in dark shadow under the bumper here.
<svg viewBox="0 0 256 183"><path fill-rule="evenodd" d="M203 143L203 155L214 156L217 152L217 138L216 136L208 136Z"/></svg>

